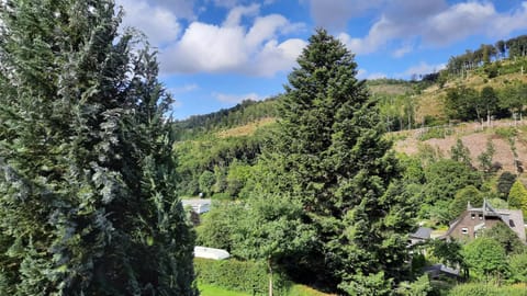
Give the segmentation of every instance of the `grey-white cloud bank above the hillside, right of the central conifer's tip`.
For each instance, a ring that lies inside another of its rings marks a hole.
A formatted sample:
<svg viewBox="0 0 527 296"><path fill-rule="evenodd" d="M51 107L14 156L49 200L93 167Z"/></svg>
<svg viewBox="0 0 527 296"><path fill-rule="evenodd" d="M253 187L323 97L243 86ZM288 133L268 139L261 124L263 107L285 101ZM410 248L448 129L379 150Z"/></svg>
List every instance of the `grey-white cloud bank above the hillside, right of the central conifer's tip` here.
<svg viewBox="0 0 527 296"><path fill-rule="evenodd" d="M446 46L471 35L500 38L527 29L527 2L514 11L498 12L487 1L448 5L445 0L395 0L385 1L377 12L379 19L366 36L338 35L351 52L363 55L395 45L392 54L400 57L415 48L408 45L413 39L425 46Z"/></svg>

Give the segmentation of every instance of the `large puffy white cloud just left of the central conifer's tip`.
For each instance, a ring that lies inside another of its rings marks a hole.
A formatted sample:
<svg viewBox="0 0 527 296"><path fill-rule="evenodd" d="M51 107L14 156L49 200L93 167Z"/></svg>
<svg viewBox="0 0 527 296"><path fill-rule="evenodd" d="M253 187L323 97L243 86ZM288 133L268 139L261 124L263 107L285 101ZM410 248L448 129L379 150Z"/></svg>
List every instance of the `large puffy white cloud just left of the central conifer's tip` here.
<svg viewBox="0 0 527 296"><path fill-rule="evenodd" d="M306 43L278 37L301 26L280 14L254 18L249 27L240 24L257 12L258 5L237 7L222 25L192 22L177 43L161 50L161 70L272 76L291 69Z"/></svg>

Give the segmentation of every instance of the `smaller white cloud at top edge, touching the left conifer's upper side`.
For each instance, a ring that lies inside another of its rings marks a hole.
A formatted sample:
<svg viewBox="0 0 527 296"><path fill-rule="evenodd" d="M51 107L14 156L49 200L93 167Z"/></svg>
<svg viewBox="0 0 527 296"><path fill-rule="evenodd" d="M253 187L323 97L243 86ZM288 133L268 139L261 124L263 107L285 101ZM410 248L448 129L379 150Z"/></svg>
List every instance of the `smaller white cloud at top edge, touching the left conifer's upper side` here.
<svg viewBox="0 0 527 296"><path fill-rule="evenodd" d="M145 0L117 0L117 4L124 7L123 25L141 30L155 46L176 41L181 32L176 14L168 9Z"/></svg>

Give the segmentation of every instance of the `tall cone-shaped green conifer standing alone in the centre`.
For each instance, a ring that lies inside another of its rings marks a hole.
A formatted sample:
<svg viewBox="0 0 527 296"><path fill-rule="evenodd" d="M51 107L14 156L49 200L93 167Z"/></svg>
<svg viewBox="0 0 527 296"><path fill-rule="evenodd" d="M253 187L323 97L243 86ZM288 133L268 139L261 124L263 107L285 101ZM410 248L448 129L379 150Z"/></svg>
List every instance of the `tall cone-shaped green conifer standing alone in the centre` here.
<svg viewBox="0 0 527 296"><path fill-rule="evenodd" d="M350 294L390 291L406 259L412 210L401 185L390 186L400 170L379 110L356 78L352 54L326 31L317 30L298 62L266 160L282 177L265 181L299 198L304 223L316 228L318 244L296 274Z"/></svg>

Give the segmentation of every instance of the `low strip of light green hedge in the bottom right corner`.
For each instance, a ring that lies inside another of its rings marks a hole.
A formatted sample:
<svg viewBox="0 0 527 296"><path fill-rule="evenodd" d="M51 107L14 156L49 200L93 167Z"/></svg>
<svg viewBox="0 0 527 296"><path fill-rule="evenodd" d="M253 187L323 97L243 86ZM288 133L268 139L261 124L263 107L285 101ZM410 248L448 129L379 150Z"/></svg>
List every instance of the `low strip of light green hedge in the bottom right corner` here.
<svg viewBox="0 0 527 296"><path fill-rule="evenodd" d="M463 284L453 287L449 296L527 296L525 284L512 286L495 286L493 284L478 283Z"/></svg>

